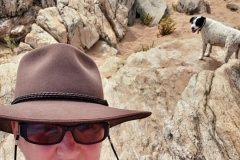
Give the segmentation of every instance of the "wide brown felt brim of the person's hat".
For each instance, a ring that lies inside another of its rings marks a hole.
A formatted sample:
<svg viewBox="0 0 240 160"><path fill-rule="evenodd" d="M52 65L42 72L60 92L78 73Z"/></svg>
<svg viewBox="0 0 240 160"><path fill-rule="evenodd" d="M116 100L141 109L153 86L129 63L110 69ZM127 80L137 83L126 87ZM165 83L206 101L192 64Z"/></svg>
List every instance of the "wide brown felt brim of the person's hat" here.
<svg viewBox="0 0 240 160"><path fill-rule="evenodd" d="M35 100L0 107L0 130L12 133L11 121L41 123L92 123L109 122L110 127L120 123L142 119L151 112L118 109L101 104Z"/></svg>

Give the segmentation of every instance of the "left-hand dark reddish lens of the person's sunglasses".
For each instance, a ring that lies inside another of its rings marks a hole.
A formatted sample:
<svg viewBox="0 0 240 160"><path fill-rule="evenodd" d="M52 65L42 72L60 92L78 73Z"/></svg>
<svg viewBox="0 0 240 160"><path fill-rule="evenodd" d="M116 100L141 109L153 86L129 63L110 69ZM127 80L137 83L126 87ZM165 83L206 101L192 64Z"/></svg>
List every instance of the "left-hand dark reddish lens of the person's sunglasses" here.
<svg viewBox="0 0 240 160"><path fill-rule="evenodd" d="M29 124L27 126L28 140L37 144L54 144L61 139L62 129L55 125Z"/></svg>

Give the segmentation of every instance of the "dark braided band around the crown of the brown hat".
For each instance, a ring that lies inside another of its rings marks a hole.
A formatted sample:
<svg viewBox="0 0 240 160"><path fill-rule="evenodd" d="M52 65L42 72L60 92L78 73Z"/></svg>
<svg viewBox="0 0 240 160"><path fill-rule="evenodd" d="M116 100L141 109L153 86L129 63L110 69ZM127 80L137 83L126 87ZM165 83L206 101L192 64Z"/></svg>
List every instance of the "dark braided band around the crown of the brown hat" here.
<svg viewBox="0 0 240 160"><path fill-rule="evenodd" d="M76 94L76 93L64 93L64 92L39 92L32 93L28 95L24 95L16 98L12 101L11 104L16 104L24 101L30 100L74 100L74 101L84 101L84 102L92 102L97 104L102 104L108 106L108 102L106 100L102 100L100 98L96 98L89 95Z"/></svg>

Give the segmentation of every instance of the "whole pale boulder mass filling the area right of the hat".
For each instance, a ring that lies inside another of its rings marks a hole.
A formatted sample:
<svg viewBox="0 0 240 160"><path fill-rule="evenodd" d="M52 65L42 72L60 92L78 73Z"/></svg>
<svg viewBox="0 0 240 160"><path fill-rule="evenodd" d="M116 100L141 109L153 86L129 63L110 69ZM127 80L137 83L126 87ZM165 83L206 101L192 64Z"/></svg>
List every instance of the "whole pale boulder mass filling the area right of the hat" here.
<svg viewBox="0 0 240 160"><path fill-rule="evenodd" d="M153 112L147 119L112 129L119 156L134 160L239 159L239 60L231 59L216 71L194 73L188 64L161 68L164 57L159 55L164 51L156 51L136 53L103 81L110 106ZM109 144L105 146L104 153L111 152ZM114 159L114 154L102 157Z"/></svg>

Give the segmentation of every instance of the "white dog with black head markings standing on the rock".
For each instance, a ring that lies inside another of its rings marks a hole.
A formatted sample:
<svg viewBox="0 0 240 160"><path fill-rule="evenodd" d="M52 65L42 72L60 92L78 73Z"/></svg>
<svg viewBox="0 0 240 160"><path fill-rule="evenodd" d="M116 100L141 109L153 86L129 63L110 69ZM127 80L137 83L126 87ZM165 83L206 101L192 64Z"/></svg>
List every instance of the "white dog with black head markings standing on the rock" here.
<svg viewBox="0 0 240 160"><path fill-rule="evenodd" d="M218 21L203 16L192 17L190 19L191 30L193 33L201 32L203 48L202 55L199 57L203 60L203 57L209 57L212 52L212 46L225 47L225 63L235 52L235 58L238 59L238 52L240 48L240 31L231 27L228 27ZM209 46L208 53L205 54L207 45Z"/></svg>

